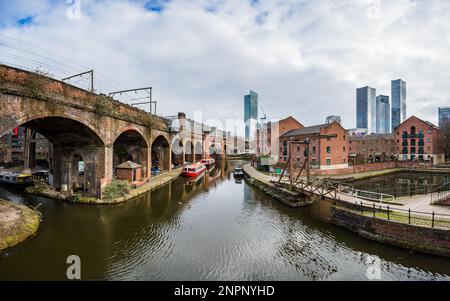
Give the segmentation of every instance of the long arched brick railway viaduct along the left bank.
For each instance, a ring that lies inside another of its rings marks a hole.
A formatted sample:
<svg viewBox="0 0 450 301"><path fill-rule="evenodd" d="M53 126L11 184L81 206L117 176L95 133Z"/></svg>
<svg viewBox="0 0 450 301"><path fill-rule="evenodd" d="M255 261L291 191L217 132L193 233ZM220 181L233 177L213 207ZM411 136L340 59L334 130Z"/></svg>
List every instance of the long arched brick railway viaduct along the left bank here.
<svg viewBox="0 0 450 301"><path fill-rule="evenodd" d="M110 183L114 166L132 160L144 168L171 170L211 153L224 156L235 143L222 131L191 122L151 115L50 77L0 65L0 137L18 126L42 134L51 143L50 172L57 190L75 185L97 197ZM214 132L215 131L215 132ZM214 132L214 133L212 133ZM78 163L84 162L80 179ZM80 183L81 182L81 183Z"/></svg>

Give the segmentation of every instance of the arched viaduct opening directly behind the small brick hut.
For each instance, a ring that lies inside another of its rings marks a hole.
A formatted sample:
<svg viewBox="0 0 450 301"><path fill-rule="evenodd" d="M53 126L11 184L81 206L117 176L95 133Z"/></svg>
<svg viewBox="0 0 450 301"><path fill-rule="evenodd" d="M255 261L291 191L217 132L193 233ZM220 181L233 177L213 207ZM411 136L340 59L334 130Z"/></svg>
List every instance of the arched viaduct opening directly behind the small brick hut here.
<svg viewBox="0 0 450 301"><path fill-rule="evenodd" d="M127 177L122 163L130 166L140 166L139 172L133 172ZM136 165L137 164L137 165ZM127 130L117 137L113 144L113 170L114 175L129 182L141 181L149 177L148 171L148 145L144 137L136 130Z"/></svg>

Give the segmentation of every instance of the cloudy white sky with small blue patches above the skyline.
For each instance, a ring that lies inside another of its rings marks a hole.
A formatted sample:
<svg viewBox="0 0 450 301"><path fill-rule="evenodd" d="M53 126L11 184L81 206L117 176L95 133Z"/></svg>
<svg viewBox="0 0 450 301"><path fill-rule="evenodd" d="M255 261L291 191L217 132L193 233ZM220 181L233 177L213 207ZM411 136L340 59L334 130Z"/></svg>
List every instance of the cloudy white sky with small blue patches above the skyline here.
<svg viewBox="0 0 450 301"><path fill-rule="evenodd" d="M103 92L150 85L161 115L242 119L252 89L269 118L347 128L356 88L390 95L402 78L408 115L437 123L449 16L448 0L0 0L0 62L93 68Z"/></svg>

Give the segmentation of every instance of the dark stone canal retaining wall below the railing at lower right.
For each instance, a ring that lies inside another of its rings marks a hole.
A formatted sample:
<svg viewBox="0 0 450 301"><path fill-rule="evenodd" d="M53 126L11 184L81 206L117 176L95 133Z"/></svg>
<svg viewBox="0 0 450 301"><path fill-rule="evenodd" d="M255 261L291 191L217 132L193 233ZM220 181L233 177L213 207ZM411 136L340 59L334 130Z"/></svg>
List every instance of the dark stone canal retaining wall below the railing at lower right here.
<svg viewBox="0 0 450 301"><path fill-rule="evenodd" d="M450 257L450 231L362 216L333 207L331 222L360 236L418 252Z"/></svg>

